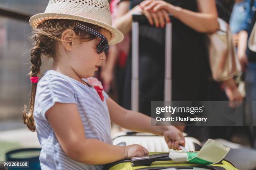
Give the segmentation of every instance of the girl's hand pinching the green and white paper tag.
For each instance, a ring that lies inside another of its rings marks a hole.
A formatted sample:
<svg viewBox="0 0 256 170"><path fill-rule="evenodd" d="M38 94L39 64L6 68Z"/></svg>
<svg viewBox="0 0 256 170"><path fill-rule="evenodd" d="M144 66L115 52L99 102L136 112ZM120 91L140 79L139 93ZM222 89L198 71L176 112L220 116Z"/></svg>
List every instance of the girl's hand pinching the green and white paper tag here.
<svg viewBox="0 0 256 170"><path fill-rule="evenodd" d="M163 135L168 148L173 150L181 150L179 145L185 146L185 138L182 132L180 132L174 126L169 126L168 130L165 130Z"/></svg>

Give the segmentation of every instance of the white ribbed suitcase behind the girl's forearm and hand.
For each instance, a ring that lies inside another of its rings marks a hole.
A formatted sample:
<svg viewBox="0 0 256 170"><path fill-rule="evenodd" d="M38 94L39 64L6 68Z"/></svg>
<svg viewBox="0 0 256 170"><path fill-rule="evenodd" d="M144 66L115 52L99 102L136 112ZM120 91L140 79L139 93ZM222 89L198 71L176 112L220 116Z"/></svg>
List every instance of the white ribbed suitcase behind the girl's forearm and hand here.
<svg viewBox="0 0 256 170"><path fill-rule="evenodd" d="M185 148L189 151L197 151L202 148L202 144L199 140L185 136L186 146ZM138 144L148 150L148 152L170 152L164 137L157 136L151 133L136 133L136 132L120 132L113 136L113 145L126 146Z"/></svg>

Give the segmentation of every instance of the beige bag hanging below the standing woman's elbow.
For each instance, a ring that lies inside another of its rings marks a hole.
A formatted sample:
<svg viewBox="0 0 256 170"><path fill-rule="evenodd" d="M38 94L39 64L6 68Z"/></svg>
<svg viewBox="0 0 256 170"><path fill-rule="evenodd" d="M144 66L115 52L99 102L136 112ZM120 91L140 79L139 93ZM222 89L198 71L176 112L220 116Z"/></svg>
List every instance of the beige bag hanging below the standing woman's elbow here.
<svg viewBox="0 0 256 170"><path fill-rule="evenodd" d="M208 34L209 62L212 78L223 81L238 75L241 65L236 56L232 33L224 20L218 18L220 28L217 32Z"/></svg>

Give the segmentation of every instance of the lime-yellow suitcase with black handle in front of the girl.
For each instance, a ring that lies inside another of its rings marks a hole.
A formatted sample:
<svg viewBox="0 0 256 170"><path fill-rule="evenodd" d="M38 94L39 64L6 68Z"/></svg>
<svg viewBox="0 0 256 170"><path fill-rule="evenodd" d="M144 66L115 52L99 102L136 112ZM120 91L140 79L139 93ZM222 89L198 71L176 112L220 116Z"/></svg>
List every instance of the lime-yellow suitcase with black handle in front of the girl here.
<svg viewBox="0 0 256 170"><path fill-rule="evenodd" d="M104 166L103 170L238 170L232 163L222 160L210 166L192 163L174 163L169 153L150 153Z"/></svg>

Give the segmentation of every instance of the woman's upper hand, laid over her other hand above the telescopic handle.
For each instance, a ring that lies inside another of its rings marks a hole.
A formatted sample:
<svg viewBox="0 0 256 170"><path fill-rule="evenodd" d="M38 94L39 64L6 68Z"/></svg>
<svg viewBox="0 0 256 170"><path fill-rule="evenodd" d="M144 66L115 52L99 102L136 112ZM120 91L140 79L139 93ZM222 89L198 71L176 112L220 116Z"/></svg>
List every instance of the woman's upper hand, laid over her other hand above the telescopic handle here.
<svg viewBox="0 0 256 170"><path fill-rule="evenodd" d="M174 5L169 4L163 0L144 0L140 4L141 8L145 11L158 12L159 10L172 10Z"/></svg>

